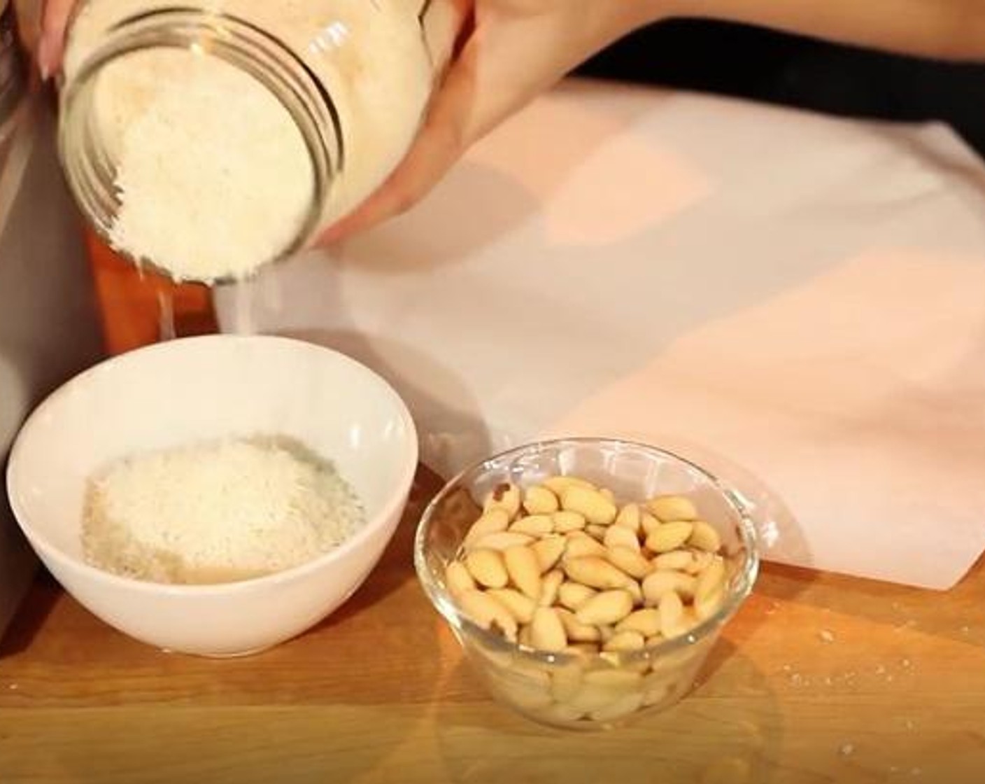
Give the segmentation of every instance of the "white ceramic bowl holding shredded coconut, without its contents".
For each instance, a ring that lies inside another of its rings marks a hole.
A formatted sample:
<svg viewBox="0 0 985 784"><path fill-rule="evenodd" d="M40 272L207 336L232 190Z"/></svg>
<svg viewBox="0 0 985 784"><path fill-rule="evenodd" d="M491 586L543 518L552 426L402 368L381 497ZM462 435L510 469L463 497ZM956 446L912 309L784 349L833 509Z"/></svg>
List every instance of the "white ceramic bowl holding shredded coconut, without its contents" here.
<svg viewBox="0 0 985 784"><path fill-rule="evenodd" d="M134 452L257 433L295 437L334 461L365 527L316 560L238 583L161 585L83 561L94 471ZM359 588L400 521L417 461L407 407L359 363L287 338L212 335L110 359L54 392L21 430L7 482L34 550L82 605L165 650L238 656L296 636Z"/></svg>

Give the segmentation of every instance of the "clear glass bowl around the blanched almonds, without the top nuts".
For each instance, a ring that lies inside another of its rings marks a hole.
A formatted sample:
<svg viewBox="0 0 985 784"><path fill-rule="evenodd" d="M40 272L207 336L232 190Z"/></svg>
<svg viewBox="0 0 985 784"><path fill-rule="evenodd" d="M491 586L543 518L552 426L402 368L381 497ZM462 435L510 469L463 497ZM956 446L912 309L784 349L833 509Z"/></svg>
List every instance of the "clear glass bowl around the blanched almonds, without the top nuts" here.
<svg viewBox="0 0 985 784"><path fill-rule="evenodd" d="M501 482L521 488L570 474L608 487L618 503L688 495L721 535L729 564L726 599L680 637L641 651L547 653L504 639L462 614L445 568ZM519 447L467 468L428 505L415 540L427 597L447 620L493 697L524 716L563 729L605 729L664 710L691 689L722 627L749 596L758 570L755 527L742 501L698 465L655 447L610 439L561 439Z"/></svg>

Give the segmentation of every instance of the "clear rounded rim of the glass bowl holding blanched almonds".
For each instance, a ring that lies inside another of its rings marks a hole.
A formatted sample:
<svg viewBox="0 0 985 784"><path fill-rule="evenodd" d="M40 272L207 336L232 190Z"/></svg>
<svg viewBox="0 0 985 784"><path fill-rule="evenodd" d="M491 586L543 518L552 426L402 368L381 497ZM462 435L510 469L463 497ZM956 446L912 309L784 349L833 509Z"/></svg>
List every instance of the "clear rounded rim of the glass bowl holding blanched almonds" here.
<svg viewBox="0 0 985 784"><path fill-rule="evenodd" d="M695 471L701 478L716 490L724 499L737 518L737 529L745 551L745 558L742 567L732 578L732 585L729 588L728 596L714 613L693 626L686 634L671 639L661 640L660 642L646 646L638 651L602 651L598 654L576 654L548 651L540 651L534 648L514 643L507 640L502 635L484 629L482 626L473 622L455 605L450 594L444 590L437 579L432 576L427 566L427 554L425 552L425 541L427 531L433 522L433 517L441 503L448 496L457 490L465 478L471 474L478 474L488 471L497 463L516 459L527 454L536 454L548 449L563 448L569 445L572 447L591 447L614 448L616 450L641 450L653 456L660 457L671 462L681 463L690 470ZM568 664L580 664L584 666L599 663L606 667L625 667L647 663L652 660L659 660L669 654L676 653L683 649L710 637L724 626L745 603L753 591L756 576L759 570L759 547L758 535L756 532L755 521L749 511L749 505L744 501L738 491L722 480L720 477L711 473L707 468L694 463L693 461L678 455L675 452L646 444L641 441L634 441L624 438L593 437L593 436L567 436L560 438L540 439L526 444L511 447L498 452L488 458L471 463L465 468L448 479L435 496L428 502L427 507L421 514L418 528L414 536L414 566L417 571L418 580L421 582L427 595L428 601L434 606L444 619L452 626L456 632L468 632L469 635L478 638L486 650L496 653L512 654L521 660L536 663L547 667L562 667Z"/></svg>

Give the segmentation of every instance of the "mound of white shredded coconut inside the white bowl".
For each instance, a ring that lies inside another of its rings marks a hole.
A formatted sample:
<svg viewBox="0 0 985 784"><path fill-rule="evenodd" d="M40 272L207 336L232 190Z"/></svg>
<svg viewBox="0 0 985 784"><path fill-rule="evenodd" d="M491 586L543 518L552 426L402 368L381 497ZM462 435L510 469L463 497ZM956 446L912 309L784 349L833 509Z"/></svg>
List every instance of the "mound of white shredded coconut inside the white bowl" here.
<svg viewBox="0 0 985 784"><path fill-rule="evenodd" d="M90 482L83 549L126 577L231 582L310 561L363 523L331 463L289 439L237 439L111 465Z"/></svg>

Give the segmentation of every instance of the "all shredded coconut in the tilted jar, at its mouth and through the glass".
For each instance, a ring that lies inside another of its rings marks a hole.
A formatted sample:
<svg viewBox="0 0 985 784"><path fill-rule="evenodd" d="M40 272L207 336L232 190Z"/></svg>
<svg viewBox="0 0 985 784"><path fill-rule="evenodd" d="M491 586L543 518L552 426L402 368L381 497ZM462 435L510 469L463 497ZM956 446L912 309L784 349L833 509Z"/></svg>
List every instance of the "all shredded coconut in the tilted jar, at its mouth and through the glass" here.
<svg viewBox="0 0 985 784"><path fill-rule="evenodd" d="M291 114L260 82L230 73L237 69L210 54L207 37L189 49L148 44L104 64L94 91L101 163L117 170L111 242L175 278L212 282L245 277L292 241L309 239L300 237L308 210L326 228L382 183L410 146L451 50L455 7L453 0L198 0L178 9L201 12L206 23L224 15L283 44L330 97L338 124L327 133L341 137L345 162L332 173L330 196L318 198ZM168 10L175 7L167 0L81 4L65 52L68 80L130 21Z"/></svg>

